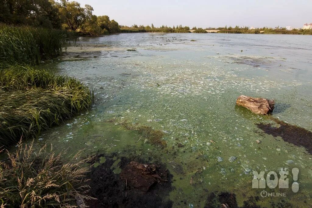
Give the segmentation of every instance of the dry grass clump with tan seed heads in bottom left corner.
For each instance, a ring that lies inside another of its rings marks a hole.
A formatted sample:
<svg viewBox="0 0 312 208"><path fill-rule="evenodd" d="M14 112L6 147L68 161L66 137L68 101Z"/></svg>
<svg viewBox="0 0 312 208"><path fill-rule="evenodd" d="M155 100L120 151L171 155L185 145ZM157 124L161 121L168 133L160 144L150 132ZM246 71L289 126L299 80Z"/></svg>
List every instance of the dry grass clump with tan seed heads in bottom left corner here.
<svg viewBox="0 0 312 208"><path fill-rule="evenodd" d="M81 152L66 163L62 153L48 152L46 145L34 151L33 142L7 152L8 159L0 161L0 207L76 207L76 201L92 198L85 186L90 168Z"/></svg>

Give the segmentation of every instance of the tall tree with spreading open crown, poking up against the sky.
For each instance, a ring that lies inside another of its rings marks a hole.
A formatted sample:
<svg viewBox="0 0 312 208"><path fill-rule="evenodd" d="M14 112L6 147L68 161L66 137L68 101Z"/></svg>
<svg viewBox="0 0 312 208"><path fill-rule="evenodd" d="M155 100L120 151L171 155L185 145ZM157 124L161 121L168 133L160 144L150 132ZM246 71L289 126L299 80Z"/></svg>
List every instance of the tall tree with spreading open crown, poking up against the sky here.
<svg viewBox="0 0 312 208"><path fill-rule="evenodd" d="M56 3L69 29L76 31L82 24L90 20L92 17L93 8L86 4L85 8L80 7L80 3L75 1L61 0Z"/></svg>

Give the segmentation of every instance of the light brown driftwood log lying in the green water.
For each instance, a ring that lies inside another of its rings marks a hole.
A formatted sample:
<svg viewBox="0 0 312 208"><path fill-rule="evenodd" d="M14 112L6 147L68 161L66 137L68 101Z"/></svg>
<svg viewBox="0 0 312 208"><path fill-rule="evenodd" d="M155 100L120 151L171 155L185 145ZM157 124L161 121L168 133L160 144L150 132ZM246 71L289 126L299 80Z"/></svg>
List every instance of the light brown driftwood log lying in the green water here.
<svg viewBox="0 0 312 208"><path fill-rule="evenodd" d="M243 106L252 112L260 115L265 115L273 111L274 100L268 100L264 98L252 98L245 95L241 95L236 100L236 105Z"/></svg>

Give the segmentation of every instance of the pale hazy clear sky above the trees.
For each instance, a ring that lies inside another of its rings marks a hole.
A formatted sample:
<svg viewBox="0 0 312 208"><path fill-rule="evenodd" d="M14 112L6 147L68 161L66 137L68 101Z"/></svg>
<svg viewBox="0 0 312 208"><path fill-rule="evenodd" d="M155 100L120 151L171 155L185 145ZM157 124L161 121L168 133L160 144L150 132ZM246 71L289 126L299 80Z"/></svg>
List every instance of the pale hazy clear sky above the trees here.
<svg viewBox="0 0 312 208"><path fill-rule="evenodd" d="M311 0L76 0L119 25L189 27L303 27L312 22Z"/></svg>

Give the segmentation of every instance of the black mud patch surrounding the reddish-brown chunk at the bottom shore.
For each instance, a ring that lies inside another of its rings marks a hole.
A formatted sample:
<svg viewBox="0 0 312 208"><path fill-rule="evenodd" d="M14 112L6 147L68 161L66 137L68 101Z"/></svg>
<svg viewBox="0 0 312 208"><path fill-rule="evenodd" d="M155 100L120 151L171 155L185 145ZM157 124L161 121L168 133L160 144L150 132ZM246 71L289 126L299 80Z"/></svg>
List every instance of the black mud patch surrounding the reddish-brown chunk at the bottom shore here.
<svg viewBox="0 0 312 208"><path fill-rule="evenodd" d="M106 161L97 167L92 167L91 172L87 176L90 178L90 195L97 200L87 201L89 207L172 207L172 201L166 197L173 189L171 186L172 175L168 174L167 182L155 183L144 192L121 180L120 174L115 174L112 167L118 166L123 169L129 162L136 159L138 162L149 164L147 161L140 161L138 158L120 157L117 159L117 153L105 157ZM160 172L168 172L162 164L157 164Z"/></svg>

